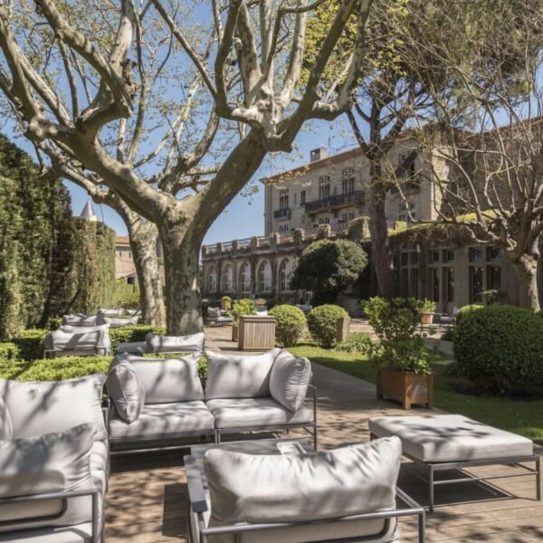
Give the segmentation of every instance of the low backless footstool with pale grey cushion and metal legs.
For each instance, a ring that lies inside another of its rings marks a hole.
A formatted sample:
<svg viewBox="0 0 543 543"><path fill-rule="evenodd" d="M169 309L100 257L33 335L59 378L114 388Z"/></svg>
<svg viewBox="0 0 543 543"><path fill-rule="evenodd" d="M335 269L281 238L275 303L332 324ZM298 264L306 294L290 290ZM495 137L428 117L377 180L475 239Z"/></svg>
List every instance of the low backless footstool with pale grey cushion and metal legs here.
<svg viewBox="0 0 543 543"><path fill-rule="evenodd" d="M535 476L537 497L541 500L540 457L534 454L533 443L526 437L478 423L461 414L377 416L369 419L368 424L372 439L396 435L402 442L404 456L427 467L430 512L433 512L434 486L466 481ZM535 462L535 469L521 462ZM434 480L434 473L438 471L504 464L516 465L522 471Z"/></svg>

